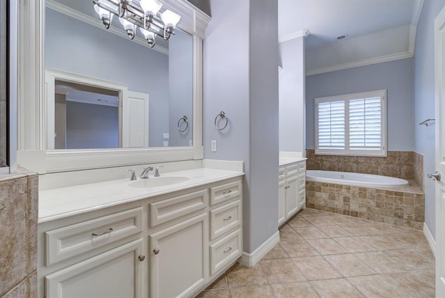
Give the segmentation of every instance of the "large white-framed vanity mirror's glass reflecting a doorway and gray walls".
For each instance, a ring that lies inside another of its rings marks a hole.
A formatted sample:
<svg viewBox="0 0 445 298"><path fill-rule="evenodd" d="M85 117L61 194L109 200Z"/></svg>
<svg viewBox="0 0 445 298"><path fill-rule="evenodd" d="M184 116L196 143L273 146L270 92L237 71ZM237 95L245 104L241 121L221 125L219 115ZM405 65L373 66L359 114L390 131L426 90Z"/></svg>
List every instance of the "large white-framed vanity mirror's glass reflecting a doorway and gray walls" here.
<svg viewBox="0 0 445 298"><path fill-rule="evenodd" d="M117 18L106 30L90 1L46 4L47 149L193 145L193 36L151 49Z"/></svg>

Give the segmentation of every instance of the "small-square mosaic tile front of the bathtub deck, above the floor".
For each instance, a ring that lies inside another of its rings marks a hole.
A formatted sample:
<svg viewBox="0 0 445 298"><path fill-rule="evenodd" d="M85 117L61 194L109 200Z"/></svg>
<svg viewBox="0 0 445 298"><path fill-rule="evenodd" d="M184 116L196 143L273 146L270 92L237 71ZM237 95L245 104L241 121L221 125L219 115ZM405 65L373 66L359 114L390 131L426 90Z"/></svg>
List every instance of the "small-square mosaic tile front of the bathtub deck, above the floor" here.
<svg viewBox="0 0 445 298"><path fill-rule="evenodd" d="M417 187L375 189L307 181L306 206L419 230L425 220L425 196Z"/></svg>

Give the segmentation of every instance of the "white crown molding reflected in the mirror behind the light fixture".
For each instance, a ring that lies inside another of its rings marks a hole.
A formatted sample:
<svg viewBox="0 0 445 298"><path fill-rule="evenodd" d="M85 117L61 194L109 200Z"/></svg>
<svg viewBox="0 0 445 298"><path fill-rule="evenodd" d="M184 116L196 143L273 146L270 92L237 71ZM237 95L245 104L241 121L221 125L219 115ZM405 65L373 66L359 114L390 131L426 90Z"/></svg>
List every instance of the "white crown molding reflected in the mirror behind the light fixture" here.
<svg viewBox="0 0 445 298"><path fill-rule="evenodd" d="M110 26L110 28L106 29L105 26L102 24L102 22L99 22L99 19L95 19L94 17L90 17L89 15L86 15L84 13L80 13L79 11L69 8L67 6L64 6L63 4L60 4L54 0L46 0L45 6L47 6L47 8L51 8L52 10L56 10L58 13L63 13L64 15L73 17L74 19L78 19L81 22L85 22L87 24L90 24L91 26L95 26L95 27L102 29L106 32L113 33L116 36L124 38L125 40L129 40L128 35L124 30L120 30L120 29L116 28L115 26ZM153 49L154 51L168 55L168 49L166 49L165 47L156 45L155 47L151 48L151 47L149 47L147 40L140 38L139 36L135 36L133 38L133 40L131 40L131 41L136 42L138 45L142 45L149 49Z"/></svg>

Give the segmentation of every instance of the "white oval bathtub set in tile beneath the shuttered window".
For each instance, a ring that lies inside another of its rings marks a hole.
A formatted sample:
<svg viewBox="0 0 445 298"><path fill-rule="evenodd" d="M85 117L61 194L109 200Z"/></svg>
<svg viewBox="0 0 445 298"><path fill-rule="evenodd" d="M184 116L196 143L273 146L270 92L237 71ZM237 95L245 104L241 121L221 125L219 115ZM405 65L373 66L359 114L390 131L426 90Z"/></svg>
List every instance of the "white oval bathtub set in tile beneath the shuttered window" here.
<svg viewBox="0 0 445 298"><path fill-rule="evenodd" d="M316 170L307 170L306 180L363 187L401 187L409 184L405 179L388 176Z"/></svg>

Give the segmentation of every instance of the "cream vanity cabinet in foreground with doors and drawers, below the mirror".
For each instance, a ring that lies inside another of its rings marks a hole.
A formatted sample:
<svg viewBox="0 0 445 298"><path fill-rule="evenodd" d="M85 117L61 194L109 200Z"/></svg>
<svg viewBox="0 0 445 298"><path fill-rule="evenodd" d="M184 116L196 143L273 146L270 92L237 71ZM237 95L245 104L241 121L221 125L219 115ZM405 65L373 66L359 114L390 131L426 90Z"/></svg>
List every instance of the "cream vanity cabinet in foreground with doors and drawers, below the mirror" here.
<svg viewBox="0 0 445 298"><path fill-rule="evenodd" d="M238 260L242 177L38 225L39 297L194 297Z"/></svg>

